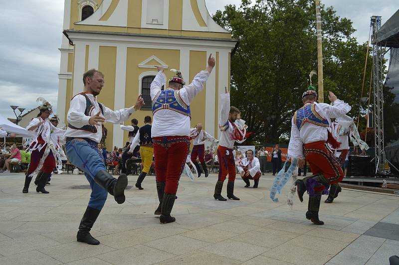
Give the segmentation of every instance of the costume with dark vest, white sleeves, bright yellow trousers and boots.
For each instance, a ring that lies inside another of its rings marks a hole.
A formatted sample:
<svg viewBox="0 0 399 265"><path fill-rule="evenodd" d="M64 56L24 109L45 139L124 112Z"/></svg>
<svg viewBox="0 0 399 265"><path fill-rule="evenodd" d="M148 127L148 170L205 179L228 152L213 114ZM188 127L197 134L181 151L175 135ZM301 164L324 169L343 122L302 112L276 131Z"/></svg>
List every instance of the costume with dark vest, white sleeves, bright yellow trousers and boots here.
<svg viewBox="0 0 399 265"><path fill-rule="evenodd" d="M141 183L150 171L154 156L153 138L151 137L151 124L146 124L139 129L139 131L136 133L136 136L133 138L132 143L130 144L129 152L133 152L136 146L139 144L143 170L141 170L141 173L137 178L136 188L142 190L143 188Z"/></svg>

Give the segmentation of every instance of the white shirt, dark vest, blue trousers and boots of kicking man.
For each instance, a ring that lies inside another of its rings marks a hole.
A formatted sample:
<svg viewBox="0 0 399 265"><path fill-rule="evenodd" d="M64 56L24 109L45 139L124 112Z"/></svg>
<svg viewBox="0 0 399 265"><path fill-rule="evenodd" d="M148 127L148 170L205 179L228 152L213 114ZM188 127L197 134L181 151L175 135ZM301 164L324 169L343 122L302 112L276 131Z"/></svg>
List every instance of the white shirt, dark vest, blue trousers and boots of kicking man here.
<svg viewBox="0 0 399 265"><path fill-rule="evenodd" d="M116 179L108 173L104 157L97 149L103 136L102 124L90 125L89 120L100 112L106 122L120 124L134 111L134 107L112 111L98 103L94 95L84 92L74 96L70 102L67 114L69 124L65 133L66 154L71 163L84 172L91 187L89 204L76 236L79 242L90 245L100 244L89 232L107 200L108 193L114 196L118 204L122 204L125 201L124 190L128 184L125 174L121 174Z"/></svg>

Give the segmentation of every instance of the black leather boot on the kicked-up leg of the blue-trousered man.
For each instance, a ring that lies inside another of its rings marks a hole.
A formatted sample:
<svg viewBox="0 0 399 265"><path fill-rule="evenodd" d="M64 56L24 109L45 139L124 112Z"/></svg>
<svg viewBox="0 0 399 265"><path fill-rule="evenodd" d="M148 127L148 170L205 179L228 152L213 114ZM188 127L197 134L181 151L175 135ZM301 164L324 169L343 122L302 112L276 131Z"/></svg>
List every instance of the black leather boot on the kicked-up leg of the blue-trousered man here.
<svg viewBox="0 0 399 265"><path fill-rule="evenodd" d="M108 191L109 194L113 195L118 204L125 202L124 192L128 185L128 177L125 174L119 175L118 179L116 179L107 170L100 170L94 177L94 181Z"/></svg>

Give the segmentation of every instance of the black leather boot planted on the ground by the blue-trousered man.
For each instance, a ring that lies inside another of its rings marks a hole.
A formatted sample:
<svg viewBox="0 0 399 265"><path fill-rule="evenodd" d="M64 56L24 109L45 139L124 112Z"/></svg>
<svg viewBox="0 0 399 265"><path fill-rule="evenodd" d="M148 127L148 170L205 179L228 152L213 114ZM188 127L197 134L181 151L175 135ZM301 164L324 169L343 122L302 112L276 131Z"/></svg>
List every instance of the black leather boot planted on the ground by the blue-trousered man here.
<svg viewBox="0 0 399 265"><path fill-rule="evenodd" d="M89 245L99 245L100 242L90 235L90 230L97 220L100 210L87 206L86 212L83 215L82 221L80 221L79 231L76 235L78 242L85 242Z"/></svg>

